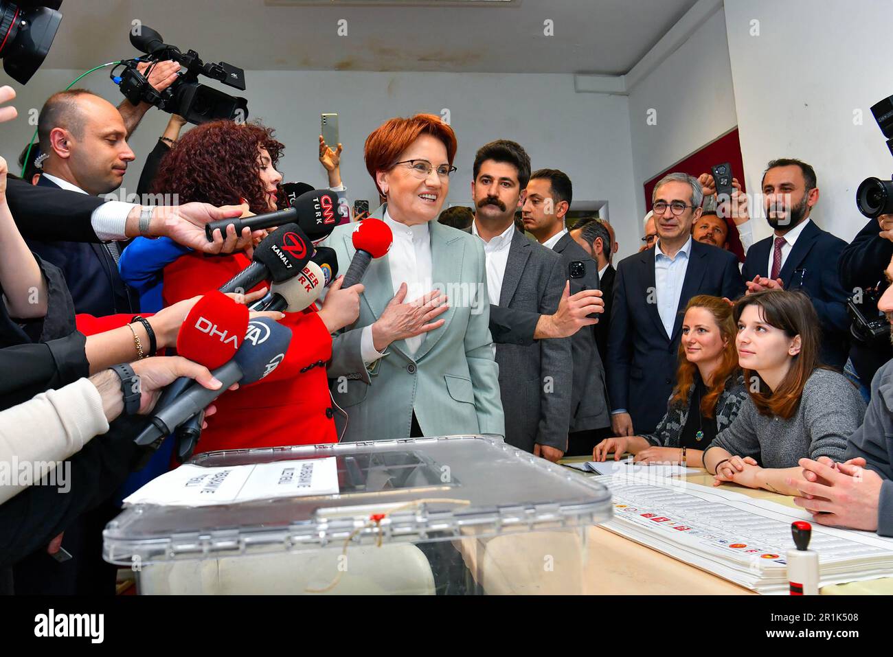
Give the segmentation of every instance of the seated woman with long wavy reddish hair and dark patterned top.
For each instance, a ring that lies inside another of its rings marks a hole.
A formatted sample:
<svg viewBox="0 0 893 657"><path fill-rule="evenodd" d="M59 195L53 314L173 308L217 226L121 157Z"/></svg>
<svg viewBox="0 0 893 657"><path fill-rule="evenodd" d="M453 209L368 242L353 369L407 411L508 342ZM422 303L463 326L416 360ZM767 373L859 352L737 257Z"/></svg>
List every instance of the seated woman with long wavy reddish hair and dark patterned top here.
<svg viewBox="0 0 893 657"><path fill-rule="evenodd" d="M682 319L676 387L663 420L647 436L606 438L596 445L593 460L605 461L612 451L619 460L630 452L637 462L703 467L703 450L730 426L747 399L736 332L729 302L717 296L693 296Z"/></svg>

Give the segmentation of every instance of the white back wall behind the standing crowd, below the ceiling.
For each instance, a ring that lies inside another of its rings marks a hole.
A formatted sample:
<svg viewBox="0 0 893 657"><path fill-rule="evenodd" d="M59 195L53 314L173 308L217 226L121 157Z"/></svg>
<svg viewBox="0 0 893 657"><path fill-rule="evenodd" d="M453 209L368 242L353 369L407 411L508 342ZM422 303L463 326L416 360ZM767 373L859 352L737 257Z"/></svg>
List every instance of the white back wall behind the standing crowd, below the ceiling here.
<svg viewBox="0 0 893 657"><path fill-rule="evenodd" d="M63 88L78 73L38 71L27 87L17 86L20 118L0 125L0 154L10 162L34 127L28 109L39 109L46 97ZM83 85L113 103L122 96L108 74L96 71ZM366 136L392 116L416 112L440 114L448 109L459 138L456 166L447 203L471 199L475 151L497 138L518 141L535 169L554 167L572 179L574 198L606 200L618 241L629 247L638 241L631 182L630 125L627 98L574 93L572 75L492 75L472 73L377 73L324 71L247 71L249 119L260 119L277 130L286 144L280 169L286 180L305 180L320 187L325 171L317 160L321 112L338 112L342 177L351 200L378 195L363 165ZM150 111L131 139L138 159L123 187L135 191L145 154L163 131L167 115ZM13 169L17 170L17 169ZM623 221L626 223L623 223ZM631 253L631 251L630 251Z"/></svg>

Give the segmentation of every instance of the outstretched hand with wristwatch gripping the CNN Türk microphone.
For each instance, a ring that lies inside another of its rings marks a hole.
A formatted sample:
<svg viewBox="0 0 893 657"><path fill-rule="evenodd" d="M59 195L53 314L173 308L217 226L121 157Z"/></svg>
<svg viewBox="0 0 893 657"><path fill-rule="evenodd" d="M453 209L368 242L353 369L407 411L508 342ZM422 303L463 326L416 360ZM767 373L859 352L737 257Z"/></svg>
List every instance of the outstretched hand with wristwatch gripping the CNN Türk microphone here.
<svg viewBox="0 0 893 657"><path fill-rule="evenodd" d="M135 206L127 218L127 237L139 235L139 212ZM226 236L221 231L214 231L214 240L209 242L204 236L204 226L211 221L232 219L241 216L244 208L241 205L223 205L214 207L206 203L188 203L183 205L160 205L154 208L152 220L149 222L149 237L170 237L178 244L189 246L205 254L231 254L242 251L250 245L254 237L262 235L262 231L243 229L236 235L236 228L227 226Z"/></svg>

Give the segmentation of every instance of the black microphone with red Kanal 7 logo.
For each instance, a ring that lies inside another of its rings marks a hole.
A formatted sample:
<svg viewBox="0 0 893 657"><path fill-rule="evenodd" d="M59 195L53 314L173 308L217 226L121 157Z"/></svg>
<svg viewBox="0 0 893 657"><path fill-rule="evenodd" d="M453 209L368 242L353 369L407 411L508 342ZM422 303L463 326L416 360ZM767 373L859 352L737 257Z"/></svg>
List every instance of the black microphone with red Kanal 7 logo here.
<svg viewBox="0 0 893 657"><path fill-rule="evenodd" d="M292 279L301 273L312 254L313 244L297 224L280 226L257 245L254 262L224 283L220 290L245 292L266 279L273 283Z"/></svg>

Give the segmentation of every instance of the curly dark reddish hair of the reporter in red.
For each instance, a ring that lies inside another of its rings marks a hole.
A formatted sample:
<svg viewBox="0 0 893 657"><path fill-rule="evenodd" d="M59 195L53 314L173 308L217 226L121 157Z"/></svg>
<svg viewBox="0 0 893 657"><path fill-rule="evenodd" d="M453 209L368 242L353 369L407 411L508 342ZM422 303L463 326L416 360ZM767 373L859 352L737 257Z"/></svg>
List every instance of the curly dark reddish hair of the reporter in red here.
<svg viewBox="0 0 893 657"><path fill-rule="evenodd" d="M247 200L251 212L268 212L267 193L260 179L257 155L270 153L273 168L285 146L273 130L260 124L211 121L189 130L166 154L152 184L154 194L176 194L179 203L200 201L213 205L237 205ZM277 194L285 207L285 195Z"/></svg>

